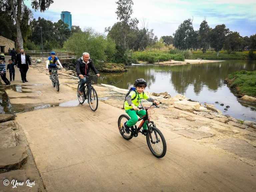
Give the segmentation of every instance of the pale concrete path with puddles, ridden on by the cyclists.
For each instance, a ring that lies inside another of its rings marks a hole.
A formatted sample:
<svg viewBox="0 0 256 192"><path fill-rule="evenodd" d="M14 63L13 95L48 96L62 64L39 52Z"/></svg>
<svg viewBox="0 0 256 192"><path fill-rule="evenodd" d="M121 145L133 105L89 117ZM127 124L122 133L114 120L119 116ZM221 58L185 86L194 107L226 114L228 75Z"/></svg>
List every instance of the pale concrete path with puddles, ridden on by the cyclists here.
<svg viewBox="0 0 256 192"><path fill-rule="evenodd" d="M15 122L24 130L47 192L255 191L254 132L159 98L164 104L154 109L152 120L166 138L167 153L157 159L143 135L126 141L117 129L127 90L95 86L100 102L93 112L86 102L78 104L77 78L60 72L57 92L44 68L30 68L28 83L16 73L6 92L26 111Z"/></svg>

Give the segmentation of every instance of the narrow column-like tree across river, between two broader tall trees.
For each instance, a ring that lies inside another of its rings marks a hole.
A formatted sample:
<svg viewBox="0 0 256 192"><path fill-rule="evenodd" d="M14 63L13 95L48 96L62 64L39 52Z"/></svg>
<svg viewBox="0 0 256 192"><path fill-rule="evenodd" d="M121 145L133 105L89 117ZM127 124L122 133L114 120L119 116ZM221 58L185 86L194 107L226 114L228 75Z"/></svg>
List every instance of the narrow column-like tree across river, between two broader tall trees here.
<svg viewBox="0 0 256 192"><path fill-rule="evenodd" d="M206 50L210 46L209 32L210 32L210 27L209 27L207 21L203 20L202 23L200 24L200 28L198 31L198 34L199 34L198 41L199 41L200 48L202 49L203 54L206 52Z"/></svg>

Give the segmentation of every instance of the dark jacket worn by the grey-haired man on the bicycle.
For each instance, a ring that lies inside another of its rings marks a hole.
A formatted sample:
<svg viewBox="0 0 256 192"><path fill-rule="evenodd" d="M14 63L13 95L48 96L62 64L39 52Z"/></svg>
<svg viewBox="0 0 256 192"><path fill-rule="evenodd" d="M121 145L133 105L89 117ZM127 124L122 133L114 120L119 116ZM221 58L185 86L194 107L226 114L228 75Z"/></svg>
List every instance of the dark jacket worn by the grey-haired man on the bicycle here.
<svg viewBox="0 0 256 192"><path fill-rule="evenodd" d="M82 58L79 58L76 62L76 73L77 75L90 75L89 70L92 69L95 74L98 74L97 69L95 68L91 59L88 60L89 63L85 64Z"/></svg>

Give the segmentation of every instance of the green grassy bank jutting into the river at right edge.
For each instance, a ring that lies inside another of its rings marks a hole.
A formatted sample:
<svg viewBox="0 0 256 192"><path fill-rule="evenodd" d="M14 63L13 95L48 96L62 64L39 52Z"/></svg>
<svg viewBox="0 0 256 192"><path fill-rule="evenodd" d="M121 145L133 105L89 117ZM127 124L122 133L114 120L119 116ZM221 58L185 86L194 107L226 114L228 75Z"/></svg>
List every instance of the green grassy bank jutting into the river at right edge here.
<svg viewBox="0 0 256 192"><path fill-rule="evenodd" d="M229 75L226 81L240 96L256 97L256 71L237 71Z"/></svg>

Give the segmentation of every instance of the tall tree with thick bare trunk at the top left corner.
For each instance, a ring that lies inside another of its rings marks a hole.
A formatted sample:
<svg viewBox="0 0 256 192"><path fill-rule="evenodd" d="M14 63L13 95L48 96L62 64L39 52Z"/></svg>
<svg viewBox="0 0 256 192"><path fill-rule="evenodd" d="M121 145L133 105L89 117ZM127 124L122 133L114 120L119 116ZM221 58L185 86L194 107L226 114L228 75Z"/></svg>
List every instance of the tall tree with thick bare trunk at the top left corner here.
<svg viewBox="0 0 256 192"><path fill-rule="evenodd" d="M5 6L6 11L13 17L16 23L16 35L17 35L17 48L23 47L23 38L25 37L23 34L28 32L28 23L25 23L26 14L31 17L31 13L28 13L28 8L24 4L23 0L2 0ZM53 3L53 0L31 0L32 8L37 11L40 9L41 12L45 11L49 8L49 6ZM25 14L25 15L24 15ZM26 24L26 25L24 25ZM25 34L27 35L27 34ZM19 51L19 50L18 50Z"/></svg>

